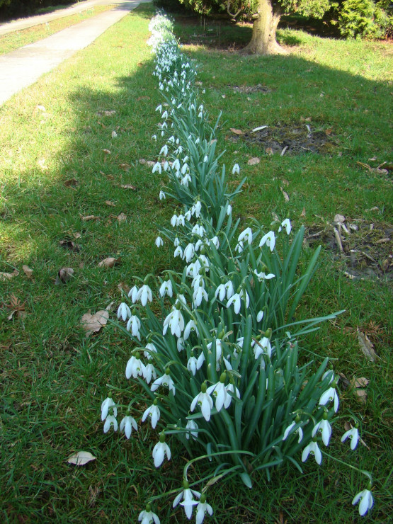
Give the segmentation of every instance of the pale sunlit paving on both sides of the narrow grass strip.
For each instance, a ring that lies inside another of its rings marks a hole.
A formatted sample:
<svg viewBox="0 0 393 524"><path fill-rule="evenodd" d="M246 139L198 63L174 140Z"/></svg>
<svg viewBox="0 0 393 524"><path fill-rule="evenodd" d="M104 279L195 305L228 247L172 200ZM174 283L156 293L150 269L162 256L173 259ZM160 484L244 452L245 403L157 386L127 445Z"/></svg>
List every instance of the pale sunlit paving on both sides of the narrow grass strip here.
<svg viewBox="0 0 393 524"><path fill-rule="evenodd" d="M0 25L0 34L6 34L1 33L1 28L4 30L5 26L7 27L6 32L21 30L32 25L45 23L48 21L46 19L47 16L52 16L50 20L61 18L62 16L69 16L70 10L73 8L78 8L78 10L71 14L79 13L92 6L115 5L110 11L99 13L88 20L63 29L59 31L59 33L55 33L44 40L25 45L25 47L21 47L21 49L0 56L0 105L8 100L8 98L11 98L13 94L34 84L42 74L50 72L65 59L72 57L77 51L91 44L98 36L110 28L111 25L118 22L127 15L127 13L132 11L132 9L145 1L149 0L88 0L76 4L76 6L72 6L72 8L56 11L57 16L55 16L55 13L47 13L38 17L25 18L23 21ZM67 11L67 14L64 14L64 11ZM37 19L39 19L39 21L37 21ZM22 22L30 25L21 27L20 24ZM11 26L13 28L11 28Z"/></svg>

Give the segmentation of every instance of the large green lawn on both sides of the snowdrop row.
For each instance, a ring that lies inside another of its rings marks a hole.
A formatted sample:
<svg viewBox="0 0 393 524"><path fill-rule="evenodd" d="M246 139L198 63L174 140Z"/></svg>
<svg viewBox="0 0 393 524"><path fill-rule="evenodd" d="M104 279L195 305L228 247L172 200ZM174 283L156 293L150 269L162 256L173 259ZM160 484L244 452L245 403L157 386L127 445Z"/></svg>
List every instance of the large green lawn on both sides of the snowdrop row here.
<svg viewBox="0 0 393 524"><path fill-rule="evenodd" d="M161 177L138 162L154 160L159 152L150 140L154 108L161 100L145 45L151 15L151 6L139 7L0 110L0 271L20 270L0 282L0 482L6 522L135 522L147 496L180 485L186 457L176 452L175 443L170 443L173 460L156 471L151 459L156 437L147 426L130 442L103 435L99 409L106 385L129 387L124 369L130 354L113 324L90 338L80 326L89 309L118 304L119 283L132 285L132 275L159 274L173 265L171 254L154 246L156 224L166 224L171 216L168 203L157 198ZM183 42L200 28L176 25ZM224 40L222 30L221 47L246 40L245 31L249 28L230 28ZM200 65L198 80L212 119L223 111L219 141L227 149L227 166L238 161L241 174L248 176L234 211L266 224L273 213L290 216L295 227L302 222L324 227L337 212L350 222L392 224L389 173L357 163L392 162L389 48L300 31L285 30L280 39L296 43L290 55L241 57L215 50L214 41L207 42L210 47L184 47ZM270 91L232 89L257 84ZM232 142L229 130L294 125L310 117L313 128L332 130L330 154L269 156L258 144ZM113 130L118 137L112 138ZM248 166L252 156L261 163ZM124 184L137 190L121 188ZM118 222L121 212L125 222ZM98 218L84 220L88 215ZM64 240L69 243L60 244ZM69 249L71 241L78 251ZM108 256L121 258L118 266L98 268ZM32 278L23 273L23 264L33 268ZM74 278L56 286L63 266L74 268ZM391 287L383 276L348 280L345 269L336 251L324 246L298 317L346 309L334 324L308 338L307 347L335 358L336 372L349 379L370 380L365 404L351 390L342 391L341 411L363 419L363 440L370 450L360 445L348 454L338 439L342 420L329 451L372 472L375 508L369 520L382 523L391 510ZM7 306L13 295L25 304L25 316L15 314L10 321ZM380 357L375 363L360 352L357 327L375 343ZM89 450L97 460L85 467L68 465L67 457L77 450ZM271 482L256 478L252 490L238 483L211 486L212 521L357 522L351 497L363 484L358 474L328 457L319 469L307 462L302 477L286 466ZM184 521L181 509L172 510L166 499L154 503L154 510L161 523Z"/></svg>

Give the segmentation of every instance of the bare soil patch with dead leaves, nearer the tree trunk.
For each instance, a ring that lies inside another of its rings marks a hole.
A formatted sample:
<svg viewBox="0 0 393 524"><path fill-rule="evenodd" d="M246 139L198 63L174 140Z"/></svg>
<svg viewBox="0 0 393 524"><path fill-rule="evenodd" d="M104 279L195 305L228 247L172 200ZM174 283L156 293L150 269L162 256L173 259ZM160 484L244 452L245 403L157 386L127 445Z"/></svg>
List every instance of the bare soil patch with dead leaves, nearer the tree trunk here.
<svg viewBox="0 0 393 524"><path fill-rule="evenodd" d="M309 124L266 126L258 131L244 132L241 136L232 137L252 144L260 144L267 154L332 154L336 148L331 130L313 130Z"/></svg>

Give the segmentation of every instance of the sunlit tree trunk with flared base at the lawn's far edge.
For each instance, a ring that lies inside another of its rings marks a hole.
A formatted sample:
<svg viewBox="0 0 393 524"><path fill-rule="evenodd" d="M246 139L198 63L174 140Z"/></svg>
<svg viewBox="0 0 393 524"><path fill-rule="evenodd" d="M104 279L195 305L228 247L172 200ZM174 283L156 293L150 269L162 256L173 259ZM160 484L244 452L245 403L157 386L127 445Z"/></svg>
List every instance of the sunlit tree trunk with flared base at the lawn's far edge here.
<svg viewBox="0 0 393 524"><path fill-rule="evenodd" d="M253 34L242 53L256 55L285 54L286 51L275 40L275 31L280 21L280 7L272 0L258 0L258 18L253 25Z"/></svg>

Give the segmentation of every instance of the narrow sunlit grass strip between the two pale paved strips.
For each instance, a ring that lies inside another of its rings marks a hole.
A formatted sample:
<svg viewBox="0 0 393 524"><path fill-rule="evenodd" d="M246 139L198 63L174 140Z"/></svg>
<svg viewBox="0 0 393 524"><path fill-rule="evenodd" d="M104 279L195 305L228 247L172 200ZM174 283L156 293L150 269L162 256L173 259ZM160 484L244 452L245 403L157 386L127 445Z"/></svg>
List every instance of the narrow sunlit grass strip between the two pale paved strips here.
<svg viewBox="0 0 393 524"><path fill-rule="evenodd" d="M54 33L58 33L62 29L69 28L71 25L87 20L87 18L96 16L98 13L108 11L108 9L111 8L113 8L113 6L93 6L85 11L77 13L76 15L64 16L63 18L57 18L50 22L34 25L31 28L1 35L0 55L5 55L6 53L15 51L24 45L38 42L38 40L42 40L42 38L47 38Z"/></svg>

